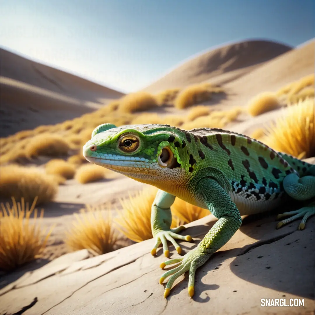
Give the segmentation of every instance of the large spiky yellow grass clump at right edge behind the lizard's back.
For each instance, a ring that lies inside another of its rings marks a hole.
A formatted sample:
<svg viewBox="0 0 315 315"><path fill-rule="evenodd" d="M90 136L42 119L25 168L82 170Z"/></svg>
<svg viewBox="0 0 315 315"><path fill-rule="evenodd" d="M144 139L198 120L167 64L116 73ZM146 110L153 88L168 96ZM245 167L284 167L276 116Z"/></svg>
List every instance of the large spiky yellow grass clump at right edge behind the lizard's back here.
<svg viewBox="0 0 315 315"><path fill-rule="evenodd" d="M298 158L315 156L315 104L314 99L306 99L289 105L285 115L267 128L262 140L279 152Z"/></svg>

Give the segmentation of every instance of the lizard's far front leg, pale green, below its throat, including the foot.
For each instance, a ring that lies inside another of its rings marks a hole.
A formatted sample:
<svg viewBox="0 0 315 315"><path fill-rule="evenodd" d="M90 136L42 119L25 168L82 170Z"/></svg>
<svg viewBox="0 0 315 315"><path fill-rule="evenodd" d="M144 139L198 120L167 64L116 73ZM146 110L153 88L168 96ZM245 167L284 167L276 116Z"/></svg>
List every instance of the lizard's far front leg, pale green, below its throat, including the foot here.
<svg viewBox="0 0 315 315"><path fill-rule="evenodd" d="M192 241L192 237L189 235L180 235L177 232L185 229L185 226L179 226L175 229L171 229L170 226L172 224L172 213L171 213L171 205L175 200L175 196L169 194L168 192L164 192L163 190L158 190L157 195L154 199L151 209L151 229L153 237L155 238L155 245L151 251L152 255L155 255L157 252L157 248L162 243L164 255L169 257L169 248L167 246L167 241L170 241L178 254L181 253L180 246L176 243L174 238Z"/></svg>

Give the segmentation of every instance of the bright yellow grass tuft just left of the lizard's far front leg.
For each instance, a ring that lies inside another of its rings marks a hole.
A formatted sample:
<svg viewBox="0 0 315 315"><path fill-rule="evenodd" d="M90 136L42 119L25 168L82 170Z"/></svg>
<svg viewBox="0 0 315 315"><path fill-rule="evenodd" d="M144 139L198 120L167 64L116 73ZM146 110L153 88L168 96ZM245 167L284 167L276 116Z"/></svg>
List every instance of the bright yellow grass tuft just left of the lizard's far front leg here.
<svg viewBox="0 0 315 315"><path fill-rule="evenodd" d="M153 186L145 187L134 197L120 201L123 210L118 212L114 220L117 229L134 242L142 242L153 238L151 231L151 207L157 193ZM178 220L173 218L172 228L178 226Z"/></svg>

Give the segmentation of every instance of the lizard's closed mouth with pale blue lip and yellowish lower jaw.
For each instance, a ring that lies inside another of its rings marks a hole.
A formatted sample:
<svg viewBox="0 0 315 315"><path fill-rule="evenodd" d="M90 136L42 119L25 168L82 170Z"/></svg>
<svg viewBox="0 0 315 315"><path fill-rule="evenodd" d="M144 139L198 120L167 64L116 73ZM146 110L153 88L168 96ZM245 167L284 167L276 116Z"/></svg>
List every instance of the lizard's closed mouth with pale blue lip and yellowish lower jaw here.
<svg viewBox="0 0 315 315"><path fill-rule="evenodd" d="M123 161L98 157L84 157L88 162L105 167L106 169L112 169L118 172L124 173L145 173L151 175L157 175L156 170L147 168L146 165L139 161ZM141 163L141 164L140 164Z"/></svg>

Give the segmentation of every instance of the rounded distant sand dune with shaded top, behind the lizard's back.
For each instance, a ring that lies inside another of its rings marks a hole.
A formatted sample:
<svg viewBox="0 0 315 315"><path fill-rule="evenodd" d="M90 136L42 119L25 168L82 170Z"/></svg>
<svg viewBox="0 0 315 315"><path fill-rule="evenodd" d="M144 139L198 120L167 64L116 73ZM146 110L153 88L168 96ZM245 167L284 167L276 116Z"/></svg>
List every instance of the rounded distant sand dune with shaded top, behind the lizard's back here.
<svg viewBox="0 0 315 315"><path fill-rule="evenodd" d="M164 89L184 87L222 75L221 81L227 82L289 50L291 50L289 46L264 40L225 45L193 57L144 90L157 93ZM230 75L227 76L226 73Z"/></svg>

